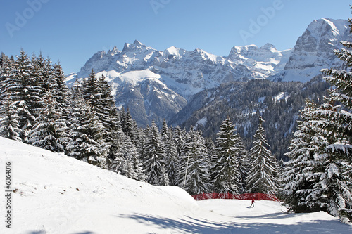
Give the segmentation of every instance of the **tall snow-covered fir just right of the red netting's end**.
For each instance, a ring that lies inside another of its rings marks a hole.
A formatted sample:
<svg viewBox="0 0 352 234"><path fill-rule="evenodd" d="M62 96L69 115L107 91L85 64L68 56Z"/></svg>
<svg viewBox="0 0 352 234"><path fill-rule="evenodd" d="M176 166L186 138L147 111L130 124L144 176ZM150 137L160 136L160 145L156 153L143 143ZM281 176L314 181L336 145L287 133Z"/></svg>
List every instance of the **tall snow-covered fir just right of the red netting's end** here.
<svg viewBox="0 0 352 234"><path fill-rule="evenodd" d="M320 167L318 155L322 155L326 148L326 139L316 127L316 110L317 105L306 100L306 107L301 110L297 130L291 140L290 151L287 152L290 160L284 163L279 196L294 212L320 210L320 206L315 202L306 200L313 186L320 180L319 175L315 174Z"/></svg>

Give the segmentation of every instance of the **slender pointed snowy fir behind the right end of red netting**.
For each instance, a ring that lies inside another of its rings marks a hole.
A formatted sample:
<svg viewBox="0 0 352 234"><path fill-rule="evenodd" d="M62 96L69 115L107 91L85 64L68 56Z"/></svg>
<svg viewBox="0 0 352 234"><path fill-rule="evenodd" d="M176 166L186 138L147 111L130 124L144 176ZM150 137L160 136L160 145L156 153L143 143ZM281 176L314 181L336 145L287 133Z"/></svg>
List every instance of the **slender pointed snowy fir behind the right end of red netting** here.
<svg viewBox="0 0 352 234"><path fill-rule="evenodd" d="M260 116L258 129L254 134L253 148L251 148L246 190L249 193L275 194L277 190L277 163L275 155L272 155L268 149L270 145L266 140L263 121Z"/></svg>

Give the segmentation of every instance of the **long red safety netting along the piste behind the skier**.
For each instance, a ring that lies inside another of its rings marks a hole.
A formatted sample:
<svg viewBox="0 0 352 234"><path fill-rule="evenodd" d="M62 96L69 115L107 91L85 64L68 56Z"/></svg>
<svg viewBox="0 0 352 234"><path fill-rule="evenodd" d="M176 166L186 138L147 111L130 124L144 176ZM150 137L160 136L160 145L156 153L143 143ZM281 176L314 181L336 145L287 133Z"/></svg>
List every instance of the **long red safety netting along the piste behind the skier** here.
<svg viewBox="0 0 352 234"><path fill-rule="evenodd" d="M231 194L231 193L203 193L198 195L192 195L194 200L206 200L206 199L237 199L237 200L270 200L279 201L275 195L265 193L244 193L244 194Z"/></svg>

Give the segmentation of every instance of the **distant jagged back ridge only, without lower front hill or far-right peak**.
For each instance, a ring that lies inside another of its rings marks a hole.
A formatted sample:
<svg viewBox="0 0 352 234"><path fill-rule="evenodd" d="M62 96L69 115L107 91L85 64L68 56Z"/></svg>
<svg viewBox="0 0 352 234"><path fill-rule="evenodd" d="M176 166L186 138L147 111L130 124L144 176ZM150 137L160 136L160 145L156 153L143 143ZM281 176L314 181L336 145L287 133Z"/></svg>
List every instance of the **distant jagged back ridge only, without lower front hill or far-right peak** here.
<svg viewBox="0 0 352 234"><path fill-rule="evenodd" d="M258 48L234 46L229 56L215 56L196 48L186 51L171 46L165 51L157 51L139 41L126 43L122 51L114 47L111 51L99 51L90 58L77 73L77 77L87 77L91 70L103 72L112 84L119 86L121 77L127 72L149 70L153 77L181 96L188 98L203 89L211 89L224 82L244 79L265 79L284 67L290 50L277 51L275 46L266 44ZM150 74L149 72L149 74ZM127 75L130 77L130 75ZM144 80L144 77L142 77ZM141 80L132 77L124 83L139 84Z"/></svg>

